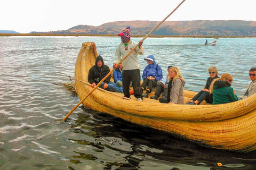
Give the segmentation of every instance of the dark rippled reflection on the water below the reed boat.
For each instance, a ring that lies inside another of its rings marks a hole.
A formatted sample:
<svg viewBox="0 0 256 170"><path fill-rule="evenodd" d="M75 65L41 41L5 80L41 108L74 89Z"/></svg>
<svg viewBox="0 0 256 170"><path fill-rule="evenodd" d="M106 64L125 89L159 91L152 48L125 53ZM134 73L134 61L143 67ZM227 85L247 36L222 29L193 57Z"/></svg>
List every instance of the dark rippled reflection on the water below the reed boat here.
<svg viewBox="0 0 256 170"><path fill-rule="evenodd" d="M256 159L256 152L241 154L205 148L165 132L82 109L86 114L77 115L71 130L84 134L85 139L93 138L94 142L68 139L84 146L84 149L74 150L76 159L70 160L73 163L89 159L105 165L104 169L155 169L156 162L174 169L182 169L185 165L185 169L250 169Z"/></svg>

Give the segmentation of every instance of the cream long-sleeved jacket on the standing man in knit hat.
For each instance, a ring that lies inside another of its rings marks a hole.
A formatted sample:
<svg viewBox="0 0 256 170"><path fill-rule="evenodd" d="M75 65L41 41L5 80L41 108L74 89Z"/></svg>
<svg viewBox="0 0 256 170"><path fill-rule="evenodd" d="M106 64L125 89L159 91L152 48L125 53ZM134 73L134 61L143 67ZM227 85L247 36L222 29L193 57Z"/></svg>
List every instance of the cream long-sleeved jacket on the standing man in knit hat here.
<svg viewBox="0 0 256 170"><path fill-rule="evenodd" d="M114 64L117 64L123 57L125 57L137 43L130 40L127 49L125 50L125 45L123 42L116 47L116 53L114 57ZM123 70L135 70L140 69L139 66L139 55L144 54L143 46L139 46L122 62Z"/></svg>

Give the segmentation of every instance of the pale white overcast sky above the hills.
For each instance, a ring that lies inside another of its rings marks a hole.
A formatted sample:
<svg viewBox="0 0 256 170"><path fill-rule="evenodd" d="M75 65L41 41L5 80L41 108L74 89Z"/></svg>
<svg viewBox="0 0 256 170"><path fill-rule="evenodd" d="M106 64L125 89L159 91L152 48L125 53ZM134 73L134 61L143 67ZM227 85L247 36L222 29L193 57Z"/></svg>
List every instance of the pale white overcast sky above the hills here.
<svg viewBox="0 0 256 170"><path fill-rule="evenodd" d="M182 0L1 0L0 30L20 33L99 26L114 21L162 21ZM255 0L186 0L166 21L256 21Z"/></svg>

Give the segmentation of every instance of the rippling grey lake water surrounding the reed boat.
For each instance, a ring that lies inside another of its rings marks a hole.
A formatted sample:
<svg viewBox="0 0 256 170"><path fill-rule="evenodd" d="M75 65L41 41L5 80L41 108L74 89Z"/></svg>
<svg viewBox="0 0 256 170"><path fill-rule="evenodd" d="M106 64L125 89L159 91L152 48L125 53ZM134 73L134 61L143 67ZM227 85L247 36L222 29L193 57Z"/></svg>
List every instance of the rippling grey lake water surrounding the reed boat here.
<svg viewBox="0 0 256 170"><path fill-rule="evenodd" d="M132 38L139 41L142 38ZM213 41L208 38L208 43ZM196 145L157 130L79 106L56 83L70 82L82 43L94 41L111 66L119 37L0 37L0 169L253 169L256 152L241 154ZM233 75L243 95L255 67L256 38L147 38L140 56L153 54L167 73L178 66L185 89L205 86L207 68ZM219 167L217 163L222 163Z"/></svg>

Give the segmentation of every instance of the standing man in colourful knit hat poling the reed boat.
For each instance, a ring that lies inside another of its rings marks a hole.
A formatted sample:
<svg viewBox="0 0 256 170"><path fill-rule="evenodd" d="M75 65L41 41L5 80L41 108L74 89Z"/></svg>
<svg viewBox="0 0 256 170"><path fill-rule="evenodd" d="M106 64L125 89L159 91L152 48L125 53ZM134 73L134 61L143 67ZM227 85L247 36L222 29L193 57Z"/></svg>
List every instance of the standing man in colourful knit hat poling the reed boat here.
<svg viewBox="0 0 256 170"><path fill-rule="evenodd" d="M130 26L126 27L118 36L121 37L121 44L116 48L114 57L113 69L116 68L116 64L125 57L134 46L137 45L135 41L131 40ZM122 62L123 64L123 91L124 97L130 98L130 83L132 81L132 87L134 90L134 97L138 101L142 101L143 96L140 91L140 67L139 67L139 55L144 53L142 47L143 42L139 42L139 46Z"/></svg>

